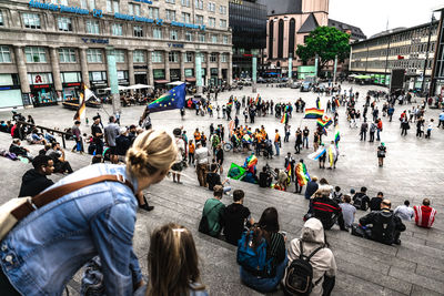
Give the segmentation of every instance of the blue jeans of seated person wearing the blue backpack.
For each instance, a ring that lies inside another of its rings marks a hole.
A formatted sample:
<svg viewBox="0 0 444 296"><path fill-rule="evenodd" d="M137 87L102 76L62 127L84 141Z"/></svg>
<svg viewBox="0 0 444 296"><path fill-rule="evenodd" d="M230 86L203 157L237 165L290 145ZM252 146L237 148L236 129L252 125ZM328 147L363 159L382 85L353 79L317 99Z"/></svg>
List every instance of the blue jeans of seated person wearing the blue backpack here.
<svg viewBox="0 0 444 296"><path fill-rule="evenodd" d="M279 283L284 277L286 263L289 258L286 257L285 252L285 259L276 266L276 275L274 277L258 277L251 275L249 272L244 271L241 266L241 280L246 286L260 292L260 293L269 293L276 289Z"/></svg>

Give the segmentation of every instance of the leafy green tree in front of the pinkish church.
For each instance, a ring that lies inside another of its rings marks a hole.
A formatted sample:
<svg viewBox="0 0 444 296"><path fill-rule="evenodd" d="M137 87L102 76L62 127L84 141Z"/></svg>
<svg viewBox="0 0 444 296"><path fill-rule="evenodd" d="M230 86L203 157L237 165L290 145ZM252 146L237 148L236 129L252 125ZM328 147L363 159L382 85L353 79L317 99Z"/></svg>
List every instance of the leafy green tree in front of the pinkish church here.
<svg viewBox="0 0 444 296"><path fill-rule="evenodd" d="M350 34L334 27L317 27L307 35L304 45L297 45L296 54L303 62L314 59L317 54L319 70L322 70L330 61L334 61L336 54L340 62L349 58L349 40Z"/></svg>

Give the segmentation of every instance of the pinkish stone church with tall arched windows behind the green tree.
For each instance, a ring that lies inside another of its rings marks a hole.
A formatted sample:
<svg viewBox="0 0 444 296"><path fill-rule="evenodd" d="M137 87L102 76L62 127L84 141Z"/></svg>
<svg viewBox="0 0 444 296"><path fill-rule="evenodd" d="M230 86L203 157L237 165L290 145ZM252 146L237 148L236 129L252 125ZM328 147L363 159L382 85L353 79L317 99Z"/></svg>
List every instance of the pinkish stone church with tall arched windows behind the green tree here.
<svg viewBox="0 0 444 296"><path fill-rule="evenodd" d="M297 70L313 69L313 67L301 67L303 62L297 59L296 49L297 44L305 43L305 38L317 27L335 27L349 33L351 42L365 39L360 28L329 19L329 0L261 1L268 3L265 54L270 71L286 74L289 58L293 58L292 72L294 76L296 76ZM346 70L346 68L340 64L339 70ZM332 72L333 63L326 65L325 71ZM299 72L303 74L301 71Z"/></svg>

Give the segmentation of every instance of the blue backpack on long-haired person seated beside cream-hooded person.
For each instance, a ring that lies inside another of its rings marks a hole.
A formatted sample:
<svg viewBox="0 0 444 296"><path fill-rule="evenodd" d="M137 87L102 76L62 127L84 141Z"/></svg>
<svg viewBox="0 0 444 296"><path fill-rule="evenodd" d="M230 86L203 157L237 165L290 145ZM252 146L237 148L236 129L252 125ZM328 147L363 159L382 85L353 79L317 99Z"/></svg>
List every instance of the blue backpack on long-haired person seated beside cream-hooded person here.
<svg viewBox="0 0 444 296"><path fill-rule="evenodd" d="M238 243L238 264L254 276L270 277L273 257L266 259L266 241L262 237L253 246L253 231L245 231Z"/></svg>

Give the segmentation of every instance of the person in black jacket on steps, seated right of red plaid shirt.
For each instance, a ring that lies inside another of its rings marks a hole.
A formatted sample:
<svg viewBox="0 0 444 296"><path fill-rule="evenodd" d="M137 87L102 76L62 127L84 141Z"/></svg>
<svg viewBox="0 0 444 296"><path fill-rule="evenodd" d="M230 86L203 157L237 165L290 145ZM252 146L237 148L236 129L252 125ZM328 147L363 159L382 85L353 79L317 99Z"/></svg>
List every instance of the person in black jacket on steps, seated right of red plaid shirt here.
<svg viewBox="0 0 444 296"><path fill-rule="evenodd" d="M391 245L401 244L401 233L405 231L405 225L401 218L393 214L391 210L392 203L389 200L383 200L381 211L374 211L360 218L360 227L373 225L371 227L370 237L373 241Z"/></svg>

